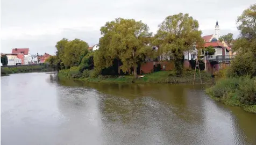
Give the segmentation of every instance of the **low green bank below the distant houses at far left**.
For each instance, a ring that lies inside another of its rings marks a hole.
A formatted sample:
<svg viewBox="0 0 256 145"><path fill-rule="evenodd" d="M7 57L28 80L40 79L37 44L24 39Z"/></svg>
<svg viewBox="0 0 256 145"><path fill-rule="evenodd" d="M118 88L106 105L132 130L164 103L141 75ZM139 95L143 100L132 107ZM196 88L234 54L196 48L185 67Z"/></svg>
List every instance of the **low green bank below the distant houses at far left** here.
<svg viewBox="0 0 256 145"><path fill-rule="evenodd" d="M31 66L11 66L11 67L1 67L1 76L6 76L9 74L16 73L32 73L32 72L47 72L54 71L53 68L48 67L47 64L31 65Z"/></svg>

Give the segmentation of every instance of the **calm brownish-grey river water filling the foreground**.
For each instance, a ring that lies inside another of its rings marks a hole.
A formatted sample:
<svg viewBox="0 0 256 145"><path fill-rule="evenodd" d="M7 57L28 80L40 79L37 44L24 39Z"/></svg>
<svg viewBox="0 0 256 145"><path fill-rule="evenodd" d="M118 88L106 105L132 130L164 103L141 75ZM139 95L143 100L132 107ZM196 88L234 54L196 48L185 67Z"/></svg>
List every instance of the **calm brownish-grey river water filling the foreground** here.
<svg viewBox="0 0 256 145"><path fill-rule="evenodd" d="M201 85L1 77L1 144L256 144L256 114Z"/></svg>

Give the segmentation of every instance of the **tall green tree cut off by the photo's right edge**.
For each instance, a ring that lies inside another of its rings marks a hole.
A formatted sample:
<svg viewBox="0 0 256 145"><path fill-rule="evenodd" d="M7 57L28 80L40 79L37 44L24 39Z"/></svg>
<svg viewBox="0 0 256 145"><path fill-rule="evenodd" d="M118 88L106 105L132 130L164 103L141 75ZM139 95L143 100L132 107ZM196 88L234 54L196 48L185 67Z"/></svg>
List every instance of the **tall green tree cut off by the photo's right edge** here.
<svg viewBox="0 0 256 145"><path fill-rule="evenodd" d="M234 42L232 49L238 56L232 61L231 75L256 76L256 4L244 10L237 19L239 37Z"/></svg>

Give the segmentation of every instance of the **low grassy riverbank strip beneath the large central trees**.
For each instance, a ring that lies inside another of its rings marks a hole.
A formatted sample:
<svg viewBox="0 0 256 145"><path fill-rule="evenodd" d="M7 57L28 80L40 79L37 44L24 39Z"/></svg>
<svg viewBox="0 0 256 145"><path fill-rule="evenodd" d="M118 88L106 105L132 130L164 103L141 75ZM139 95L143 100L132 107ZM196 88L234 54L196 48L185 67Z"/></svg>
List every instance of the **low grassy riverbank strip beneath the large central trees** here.
<svg viewBox="0 0 256 145"><path fill-rule="evenodd" d="M90 73L91 74L91 73ZM201 71L202 83L211 83L211 75L205 71ZM187 70L183 72L181 77L175 75L175 71L158 71L151 74L145 74L144 77L134 79L132 75L124 76L98 76L90 77L89 75L81 74L79 77L74 77L69 70L61 70L58 73L60 79L79 79L87 82L99 83L170 83L170 84L192 84L194 80L194 70ZM199 72L196 72L195 83L199 84Z"/></svg>

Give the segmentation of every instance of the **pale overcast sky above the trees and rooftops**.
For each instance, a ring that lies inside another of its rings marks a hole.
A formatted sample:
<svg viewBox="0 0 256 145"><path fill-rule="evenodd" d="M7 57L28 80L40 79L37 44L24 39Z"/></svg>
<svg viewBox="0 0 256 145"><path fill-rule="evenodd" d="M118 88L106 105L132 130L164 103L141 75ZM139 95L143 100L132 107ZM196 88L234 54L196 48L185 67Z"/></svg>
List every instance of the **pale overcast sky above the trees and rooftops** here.
<svg viewBox="0 0 256 145"><path fill-rule="evenodd" d="M236 19L255 0L1 0L1 52L30 48L31 54L54 54L62 38L82 39L90 46L101 37L99 28L115 18L133 18L155 33L165 17L189 13L203 35L214 34L216 20L221 35L238 35Z"/></svg>

